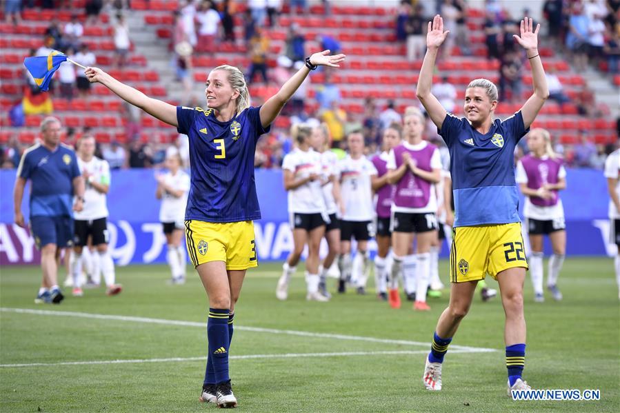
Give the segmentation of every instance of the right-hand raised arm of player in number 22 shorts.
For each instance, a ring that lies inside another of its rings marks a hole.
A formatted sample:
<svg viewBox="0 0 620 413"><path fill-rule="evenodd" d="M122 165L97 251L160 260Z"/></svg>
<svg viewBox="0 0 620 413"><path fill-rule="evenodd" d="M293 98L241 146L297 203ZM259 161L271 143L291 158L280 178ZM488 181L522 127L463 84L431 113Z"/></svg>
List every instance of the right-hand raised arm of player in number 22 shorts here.
<svg viewBox="0 0 620 413"><path fill-rule="evenodd" d="M547 78L545 77L545 69L538 53L538 31L540 24L536 26L536 30L532 31L532 19L527 17L521 20L521 37L514 34L514 39L526 50L530 66L532 66L532 83L534 83L534 94L528 99L521 114L523 115L523 124L526 129L530 127L538 112L545 104L549 97L549 87Z"/></svg>

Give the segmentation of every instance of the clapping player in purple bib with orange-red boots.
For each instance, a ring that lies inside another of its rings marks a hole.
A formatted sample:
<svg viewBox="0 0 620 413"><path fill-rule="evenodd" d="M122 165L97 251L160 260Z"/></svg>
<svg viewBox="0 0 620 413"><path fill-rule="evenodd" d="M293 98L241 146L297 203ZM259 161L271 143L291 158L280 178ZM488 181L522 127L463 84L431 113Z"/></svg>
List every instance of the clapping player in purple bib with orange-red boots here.
<svg viewBox="0 0 620 413"><path fill-rule="evenodd" d="M392 203L392 278L417 262L414 310L428 311L426 292L430 281L430 245L437 230L437 194L441 157L437 146L422 139L424 117L408 109L403 119L403 143L390 152L388 179L396 185ZM414 239L417 254L408 254Z"/></svg>

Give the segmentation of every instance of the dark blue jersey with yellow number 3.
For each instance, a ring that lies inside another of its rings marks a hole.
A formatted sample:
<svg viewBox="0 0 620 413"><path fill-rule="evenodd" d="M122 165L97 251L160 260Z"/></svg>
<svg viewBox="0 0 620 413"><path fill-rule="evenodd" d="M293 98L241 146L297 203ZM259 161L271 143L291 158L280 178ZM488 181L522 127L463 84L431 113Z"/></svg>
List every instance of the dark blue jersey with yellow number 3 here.
<svg viewBox="0 0 620 413"><path fill-rule="evenodd" d="M263 128L259 108L247 108L228 122L214 111L177 106L179 133L190 141L191 185L185 219L206 222L261 218L254 183L254 152Z"/></svg>

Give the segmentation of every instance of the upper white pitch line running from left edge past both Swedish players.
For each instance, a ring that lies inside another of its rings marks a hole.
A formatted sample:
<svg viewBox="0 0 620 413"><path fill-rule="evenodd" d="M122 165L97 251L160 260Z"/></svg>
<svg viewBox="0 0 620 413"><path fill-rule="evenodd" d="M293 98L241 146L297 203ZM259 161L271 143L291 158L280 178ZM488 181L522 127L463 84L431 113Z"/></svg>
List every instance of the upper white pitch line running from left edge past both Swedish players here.
<svg viewBox="0 0 620 413"><path fill-rule="evenodd" d="M148 317L134 317L134 316L114 316L111 314L92 314L89 312L69 312L69 311L54 311L54 310L31 310L28 308L0 308L2 312L13 312L18 314L37 314L47 316L72 316L82 317L86 319L100 319L100 320L116 320L116 321L133 321L136 323L152 323L163 325L184 325L188 327L206 328L205 323L197 323L195 321L179 321L179 320L166 320L166 319L150 319ZM260 327L245 327L243 325L235 325L235 330L261 332L270 334L286 334L290 336L303 336L303 337L315 337L321 339L338 339L338 340L350 340L350 341L366 341L368 343L383 343L383 344L399 344L399 345L418 345L428 347L429 343L422 341L408 341L408 340L392 340L392 339L378 339L376 337L368 336L350 336L347 334L332 334L332 333L317 333L306 332L297 330L277 330L274 328L260 328ZM465 345L450 345L450 350L463 350L469 352L497 352L494 348L485 347L469 347Z"/></svg>

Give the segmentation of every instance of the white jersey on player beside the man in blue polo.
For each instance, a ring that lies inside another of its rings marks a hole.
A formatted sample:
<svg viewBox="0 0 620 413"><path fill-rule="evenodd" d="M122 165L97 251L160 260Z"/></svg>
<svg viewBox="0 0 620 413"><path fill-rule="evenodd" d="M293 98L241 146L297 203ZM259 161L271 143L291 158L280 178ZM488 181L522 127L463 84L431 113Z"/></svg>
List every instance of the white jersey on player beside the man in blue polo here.
<svg viewBox="0 0 620 413"><path fill-rule="evenodd" d="M77 221L92 221L108 216L108 197L106 194L94 189L91 182L110 185L110 165L108 161L92 157L89 162L77 158L80 172L88 172L90 177L86 179L86 191L84 192L84 207L80 212L74 212Z"/></svg>

